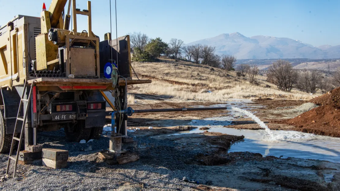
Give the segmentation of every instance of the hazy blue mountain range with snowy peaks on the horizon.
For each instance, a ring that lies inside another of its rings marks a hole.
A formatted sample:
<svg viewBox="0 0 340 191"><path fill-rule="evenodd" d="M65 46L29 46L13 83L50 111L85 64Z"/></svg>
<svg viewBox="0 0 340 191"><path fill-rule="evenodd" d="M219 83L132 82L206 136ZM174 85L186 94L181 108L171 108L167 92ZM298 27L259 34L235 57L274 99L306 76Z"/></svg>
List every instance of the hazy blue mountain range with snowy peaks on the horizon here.
<svg viewBox="0 0 340 191"><path fill-rule="evenodd" d="M246 37L238 32L221 34L187 45L206 44L216 46L216 54L234 55L237 59L277 59L277 58L340 58L340 45L314 47L290 38L272 36Z"/></svg>

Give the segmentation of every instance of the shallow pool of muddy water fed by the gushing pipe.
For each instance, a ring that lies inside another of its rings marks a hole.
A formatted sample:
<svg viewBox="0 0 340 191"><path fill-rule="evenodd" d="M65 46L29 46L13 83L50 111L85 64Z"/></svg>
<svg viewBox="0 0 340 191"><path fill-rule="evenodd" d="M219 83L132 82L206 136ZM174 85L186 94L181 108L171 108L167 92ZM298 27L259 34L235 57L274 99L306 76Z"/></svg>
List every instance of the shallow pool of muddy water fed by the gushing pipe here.
<svg viewBox="0 0 340 191"><path fill-rule="evenodd" d="M239 107L249 110L242 101L232 101L233 107ZM217 105L213 106L216 107ZM221 107L231 106L220 104ZM232 112L233 116L244 116L239 112ZM237 130L226 128L233 121L234 117L211 117L203 120L192 120L190 125L197 126L190 132L182 133L200 133L204 130L199 130L200 127L209 127L210 132L221 132L231 135L244 135L244 140L232 144L228 152L250 151L261 153L263 156L276 156L283 158L296 157L305 159L328 160L335 163L340 163L340 138L314 135L310 133L302 133L297 131L268 131L266 130ZM210 125L210 126L208 126ZM254 124L258 125L258 124ZM178 134L174 134L178 135Z"/></svg>

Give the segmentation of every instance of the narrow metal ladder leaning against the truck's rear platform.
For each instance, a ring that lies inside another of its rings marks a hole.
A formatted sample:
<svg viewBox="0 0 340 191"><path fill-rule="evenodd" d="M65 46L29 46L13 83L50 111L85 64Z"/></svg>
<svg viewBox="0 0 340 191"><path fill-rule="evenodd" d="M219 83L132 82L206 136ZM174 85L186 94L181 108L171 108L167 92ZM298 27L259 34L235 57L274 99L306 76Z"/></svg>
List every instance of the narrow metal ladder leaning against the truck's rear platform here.
<svg viewBox="0 0 340 191"><path fill-rule="evenodd" d="M23 135L23 129L25 127L25 123L26 123L26 119L27 119L27 112L28 112L29 105L30 105L30 102L31 102L33 86L34 86L34 81L31 84L31 89L30 89L30 93L29 93L28 99L23 99L23 97L25 96L26 88L27 88L27 81L25 82L25 84L23 86L23 91L22 91L21 99L20 99L17 119L15 121L14 133L13 133L12 144L11 144L11 151L10 151L10 155L8 156L8 163L7 163L7 170L6 170L6 174L8 174L8 171L10 170L11 160L14 160L15 161L15 166L14 166L13 178L15 177L15 172L17 170L19 152L20 152L20 148L21 148L21 140L22 140L22 135ZM20 118L21 107L23 107L22 105L23 105L24 101L26 101L27 104L26 104L26 108L25 108L24 113L23 113L23 118ZM22 121L20 138L17 138L15 136L15 132L16 132L16 129L17 129L18 121ZM13 157L12 153L13 153L13 148L14 148L14 145L15 145L15 141L19 141L19 145L18 145L18 150L17 150L17 153L16 153L16 157Z"/></svg>

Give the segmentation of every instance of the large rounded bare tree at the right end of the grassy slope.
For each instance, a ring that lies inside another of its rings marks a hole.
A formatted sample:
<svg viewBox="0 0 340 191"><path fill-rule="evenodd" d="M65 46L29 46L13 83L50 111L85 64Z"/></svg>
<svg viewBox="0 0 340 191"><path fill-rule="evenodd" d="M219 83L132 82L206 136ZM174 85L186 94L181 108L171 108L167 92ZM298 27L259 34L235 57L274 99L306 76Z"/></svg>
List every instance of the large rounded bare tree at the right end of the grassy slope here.
<svg viewBox="0 0 340 191"><path fill-rule="evenodd" d="M277 85L280 90L290 92L297 78L298 73L289 61L277 60L268 67L267 81Z"/></svg>

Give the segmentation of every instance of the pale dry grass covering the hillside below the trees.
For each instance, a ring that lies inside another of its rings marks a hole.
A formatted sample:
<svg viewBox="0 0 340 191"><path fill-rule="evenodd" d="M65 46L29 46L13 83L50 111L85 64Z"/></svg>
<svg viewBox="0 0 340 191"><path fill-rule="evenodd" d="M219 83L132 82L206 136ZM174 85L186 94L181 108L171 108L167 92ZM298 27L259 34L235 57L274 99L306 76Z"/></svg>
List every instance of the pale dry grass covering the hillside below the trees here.
<svg viewBox="0 0 340 191"><path fill-rule="evenodd" d="M138 84L134 87L145 93L182 100L225 101L228 98L259 97L309 100L315 97L297 90L278 90L264 76L258 76L256 80L259 85L254 85L246 77L237 77L235 72L211 69L210 66L191 62L174 62L171 59L163 61L134 62L133 67L141 78L152 79L151 84Z"/></svg>

